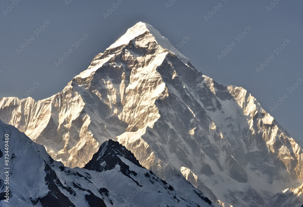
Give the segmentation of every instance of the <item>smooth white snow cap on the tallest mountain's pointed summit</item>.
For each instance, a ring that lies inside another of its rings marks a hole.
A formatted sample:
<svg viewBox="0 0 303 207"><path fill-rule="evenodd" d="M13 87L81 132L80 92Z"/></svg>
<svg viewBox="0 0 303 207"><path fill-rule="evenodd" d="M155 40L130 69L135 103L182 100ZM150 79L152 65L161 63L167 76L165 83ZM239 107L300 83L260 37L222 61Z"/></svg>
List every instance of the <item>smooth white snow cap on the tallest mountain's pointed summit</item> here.
<svg viewBox="0 0 303 207"><path fill-rule="evenodd" d="M174 53L175 55L178 55L183 60L189 61L188 58L179 52L170 42L167 38L162 36L158 30L153 28L151 25L146 24L144 22L138 22L133 27L129 28L124 35L122 35L121 38L119 38L117 41L115 41L114 44L109 46L109 48L117 48L121 45L128 44L129 41L134 40L136 37L144 34L145 32L150 33L153 38L151 38L148 41L156 41L163 49L167 49ZM109 49L108 48L108 49Z"/></svg>

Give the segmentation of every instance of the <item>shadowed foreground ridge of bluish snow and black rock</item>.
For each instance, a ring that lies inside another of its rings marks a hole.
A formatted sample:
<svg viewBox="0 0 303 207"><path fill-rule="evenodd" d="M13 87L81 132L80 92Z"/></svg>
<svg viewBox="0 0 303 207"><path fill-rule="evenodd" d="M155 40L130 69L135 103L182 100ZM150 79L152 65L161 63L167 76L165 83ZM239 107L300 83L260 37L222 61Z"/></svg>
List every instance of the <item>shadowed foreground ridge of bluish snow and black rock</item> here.
<svg viewBox="0 0 303 207"><path fill-rule="evenodd" d="M0 206L214 207L184 178L175 177L173 183L160 179L113 140L103 143L85 168L70 169L54 161L43 146L0 120L1 146L6 133L10 148L10 198L7 203L3 197L6 184L2 176L4 156L0 153Z"/></svg>

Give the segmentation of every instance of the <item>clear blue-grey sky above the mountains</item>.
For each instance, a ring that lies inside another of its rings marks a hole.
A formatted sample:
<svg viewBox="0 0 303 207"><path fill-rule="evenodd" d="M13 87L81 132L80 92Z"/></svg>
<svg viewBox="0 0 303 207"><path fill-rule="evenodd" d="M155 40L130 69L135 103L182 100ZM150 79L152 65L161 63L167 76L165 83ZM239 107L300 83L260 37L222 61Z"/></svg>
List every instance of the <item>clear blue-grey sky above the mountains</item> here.
<svg viewBox="0 0 303 207"><path fill-rule="evenodd" d="M244 87L292 137L303 140L301 0L19 1L0 2L0 97L24 97L35 82L30 96L36 100L60 92L96 54L143 21L174 45L190 38L179 51L198 70L218 83ZM82 33L89 36L76 45ZM230 51L226 45L233 45ZM56 67L70 48L73 53ZM221 50L228 53L219 57ZM257 73L265 58L270 62Z"/></svg>

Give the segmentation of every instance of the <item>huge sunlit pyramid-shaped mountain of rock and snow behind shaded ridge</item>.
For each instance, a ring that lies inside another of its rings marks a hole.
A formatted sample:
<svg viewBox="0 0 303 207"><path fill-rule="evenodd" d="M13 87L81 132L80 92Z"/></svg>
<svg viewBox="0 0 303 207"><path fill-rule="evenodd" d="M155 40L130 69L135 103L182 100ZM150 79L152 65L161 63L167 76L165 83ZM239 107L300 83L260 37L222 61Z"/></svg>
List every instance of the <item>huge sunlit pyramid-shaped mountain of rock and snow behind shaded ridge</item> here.
<svg viewBox="0 0 303 207"><path fill-rule="evenodd" d="M142 22L61 93L0 99L0 119L66 166L117 140L161 179L183 175L225 206L264 206L303 179L301 144L251 94L202 75Z"/></svg>

